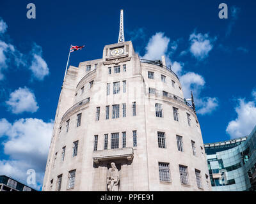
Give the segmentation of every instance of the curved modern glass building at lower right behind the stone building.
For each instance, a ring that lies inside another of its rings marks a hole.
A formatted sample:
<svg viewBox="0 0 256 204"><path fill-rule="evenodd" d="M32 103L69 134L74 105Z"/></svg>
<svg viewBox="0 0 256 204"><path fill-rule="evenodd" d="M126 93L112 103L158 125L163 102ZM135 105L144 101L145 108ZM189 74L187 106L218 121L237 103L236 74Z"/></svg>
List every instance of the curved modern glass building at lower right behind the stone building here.
<svg viewBox="0 0 256 204"><path fill-rule="evenodd" d="M212 191L256 191L256 126L248 136L204 147Z"/></svg>

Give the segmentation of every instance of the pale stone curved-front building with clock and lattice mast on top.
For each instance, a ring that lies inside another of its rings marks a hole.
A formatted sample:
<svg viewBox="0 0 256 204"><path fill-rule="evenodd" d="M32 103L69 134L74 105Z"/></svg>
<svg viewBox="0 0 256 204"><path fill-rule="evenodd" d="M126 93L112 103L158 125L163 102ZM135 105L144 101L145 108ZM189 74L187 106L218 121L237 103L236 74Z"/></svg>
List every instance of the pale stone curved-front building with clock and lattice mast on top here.
<svg viewBox="0 0 256 204"><path fill-rule="evenodd" d="M118 43L102 59L68 68L43 191L211 191L200 125L179 78L164 57L140 59L124 40L122 13L120 22Z"/></svg>

